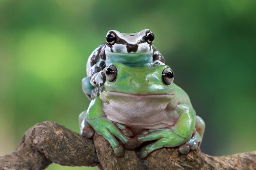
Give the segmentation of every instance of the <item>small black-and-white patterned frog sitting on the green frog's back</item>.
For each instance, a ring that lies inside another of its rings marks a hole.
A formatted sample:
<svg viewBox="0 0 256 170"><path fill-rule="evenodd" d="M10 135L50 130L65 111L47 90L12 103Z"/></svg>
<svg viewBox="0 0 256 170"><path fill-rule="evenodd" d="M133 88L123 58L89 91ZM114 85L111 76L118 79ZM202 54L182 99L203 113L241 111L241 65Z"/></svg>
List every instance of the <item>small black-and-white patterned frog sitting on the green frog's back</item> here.
<svg viewBox="0 0 256 170"><path fill-rule="evenodd" d="M149 29L138 33L120 33L108 31L106 43L101 44L90 55L86 73L88 77L82 80L83 91L88 98L97 96L94 87L103 85L103 75L106 66L112 62L120 62L128 66L156 66L164 64L164 57L153 46L154 34ZM94 91L93 91L94 90ZM92 96L91 96L92 93Z"/></svg>

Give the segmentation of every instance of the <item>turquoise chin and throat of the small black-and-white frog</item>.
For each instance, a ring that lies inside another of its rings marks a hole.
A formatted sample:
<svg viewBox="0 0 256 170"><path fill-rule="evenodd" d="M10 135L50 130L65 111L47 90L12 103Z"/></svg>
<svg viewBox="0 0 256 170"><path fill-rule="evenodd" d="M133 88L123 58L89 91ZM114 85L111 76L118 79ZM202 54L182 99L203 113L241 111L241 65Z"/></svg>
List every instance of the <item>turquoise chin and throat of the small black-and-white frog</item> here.
<svg viewBox="0 0 256 170"><path fill-rule="evenodd" d="M153 50L145 53L113 53L105 51L106 63L120 62L128 66L143 66L153 62Z"/></svg>

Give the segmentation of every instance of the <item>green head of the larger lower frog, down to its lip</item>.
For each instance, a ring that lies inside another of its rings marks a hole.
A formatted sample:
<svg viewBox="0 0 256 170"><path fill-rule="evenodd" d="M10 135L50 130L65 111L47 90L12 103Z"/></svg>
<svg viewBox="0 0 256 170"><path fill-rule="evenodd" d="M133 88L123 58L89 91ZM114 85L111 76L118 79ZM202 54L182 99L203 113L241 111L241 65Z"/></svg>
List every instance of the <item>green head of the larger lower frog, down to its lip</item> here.
<svg viewBox="0 0 256 170"><path fill-rule="evenodd" d="M126 66L115 62L105 69L106 81L100 93L105 101L117 96L170 101L175 96L174 73L169 66Z"/></svg>

